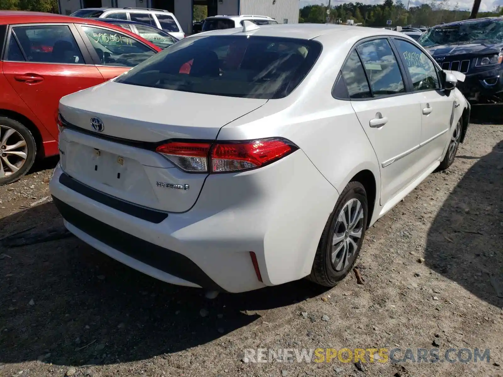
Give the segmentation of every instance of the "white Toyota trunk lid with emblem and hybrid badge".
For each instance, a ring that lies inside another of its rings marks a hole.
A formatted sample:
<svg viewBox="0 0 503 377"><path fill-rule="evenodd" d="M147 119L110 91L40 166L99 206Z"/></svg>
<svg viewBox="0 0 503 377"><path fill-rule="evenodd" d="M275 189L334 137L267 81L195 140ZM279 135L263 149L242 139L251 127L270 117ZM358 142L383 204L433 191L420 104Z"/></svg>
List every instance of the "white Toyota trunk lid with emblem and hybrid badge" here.
<svg viewBox="0 0 503 377"><path fill-rule="evenodd" d="M115 82L98 85L60 101L68 125L60 135L61 165L72 178L112 197L184 212L196 202L207 173L182 171L155 147L171 139L215 140L222 126L266 102ZM91 118L102 129L94 129Z"/></svg>

